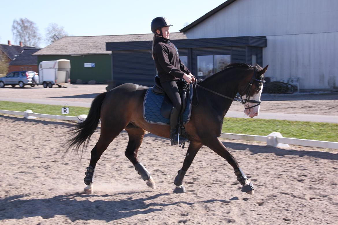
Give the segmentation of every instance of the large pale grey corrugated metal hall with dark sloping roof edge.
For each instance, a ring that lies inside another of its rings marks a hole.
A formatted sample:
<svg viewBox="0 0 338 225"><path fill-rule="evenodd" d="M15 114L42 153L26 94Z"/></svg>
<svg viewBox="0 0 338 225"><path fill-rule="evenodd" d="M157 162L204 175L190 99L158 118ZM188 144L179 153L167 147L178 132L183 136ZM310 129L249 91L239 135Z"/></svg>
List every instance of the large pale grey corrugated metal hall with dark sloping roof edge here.
<svg viewBox="0 0 338 225"><path fill-rule="evenodd" d="M267 77L299 77L303 90L337 89L337 21L335 0L228 0L180 31L188 39L265 36Z"/></svg>

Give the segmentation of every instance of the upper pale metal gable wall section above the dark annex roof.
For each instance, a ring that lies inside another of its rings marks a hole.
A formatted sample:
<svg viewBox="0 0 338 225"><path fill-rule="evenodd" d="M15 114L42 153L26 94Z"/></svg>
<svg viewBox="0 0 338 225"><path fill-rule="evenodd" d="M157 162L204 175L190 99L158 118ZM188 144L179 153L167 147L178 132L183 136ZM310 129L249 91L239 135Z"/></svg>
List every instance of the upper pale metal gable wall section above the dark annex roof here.
<svg viewBox="0 0 338 225"><path fill-rule="evenodd" d="M186 31L188 39L338 31L337 0L237 0Z"/></svg>

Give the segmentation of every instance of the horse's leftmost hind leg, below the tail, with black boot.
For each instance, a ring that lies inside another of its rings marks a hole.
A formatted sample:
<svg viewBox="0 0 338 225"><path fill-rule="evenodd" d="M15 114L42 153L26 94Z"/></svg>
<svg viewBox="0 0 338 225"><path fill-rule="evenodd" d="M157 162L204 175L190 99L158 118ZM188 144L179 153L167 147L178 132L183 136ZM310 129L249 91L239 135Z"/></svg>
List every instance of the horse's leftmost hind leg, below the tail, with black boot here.
<svg viewBox="0 0 338 225"><path fill-rule="evenodd" d="M87 187L84 188L84 192L87 194L94 193L93 178L96 163L99 161L109 144L121 133L121 131L123 131L124 127L125 124L123 123L111 124L110 126L105 126L101 123L100 138L91 151L90 164L89 167L87 167L86 176L83 179L84 183L87 185Z"/></svg>

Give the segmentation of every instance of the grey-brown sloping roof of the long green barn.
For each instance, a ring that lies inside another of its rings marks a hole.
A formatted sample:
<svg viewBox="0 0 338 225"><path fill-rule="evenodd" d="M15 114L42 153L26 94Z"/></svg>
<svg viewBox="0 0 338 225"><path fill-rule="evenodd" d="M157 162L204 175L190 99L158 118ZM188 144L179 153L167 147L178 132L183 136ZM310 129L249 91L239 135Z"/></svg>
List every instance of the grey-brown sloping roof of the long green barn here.
<svg viewBox="0 0 338 225"><path fill-rule="evenodd" d="M111 54L106 50L107 42L152 41L154 34L127 34L106 36L63 37L33 55L89 55ZM171 39L187 39L184 33L171 33Z"/></svg>

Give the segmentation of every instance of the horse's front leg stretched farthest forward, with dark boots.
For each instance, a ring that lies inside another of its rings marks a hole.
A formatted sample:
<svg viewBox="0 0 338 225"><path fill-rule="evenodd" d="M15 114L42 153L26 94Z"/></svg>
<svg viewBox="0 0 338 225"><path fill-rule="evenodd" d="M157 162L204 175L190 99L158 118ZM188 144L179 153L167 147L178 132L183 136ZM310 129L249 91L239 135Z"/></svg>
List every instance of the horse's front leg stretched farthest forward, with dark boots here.
<svg viewBox="0 0 338 225"><path fill-rule="evenodd" d="M254 194L254 185L250 182L247 176L245 176L242 169L239 167L235 157L226 149L226 147L218 138L209 139L206 143L203 144L208 146L211 150L219 154L224 159L226 159L226 161L234 168L237 180L242 185L242 192L250 195Z"/></svg>

